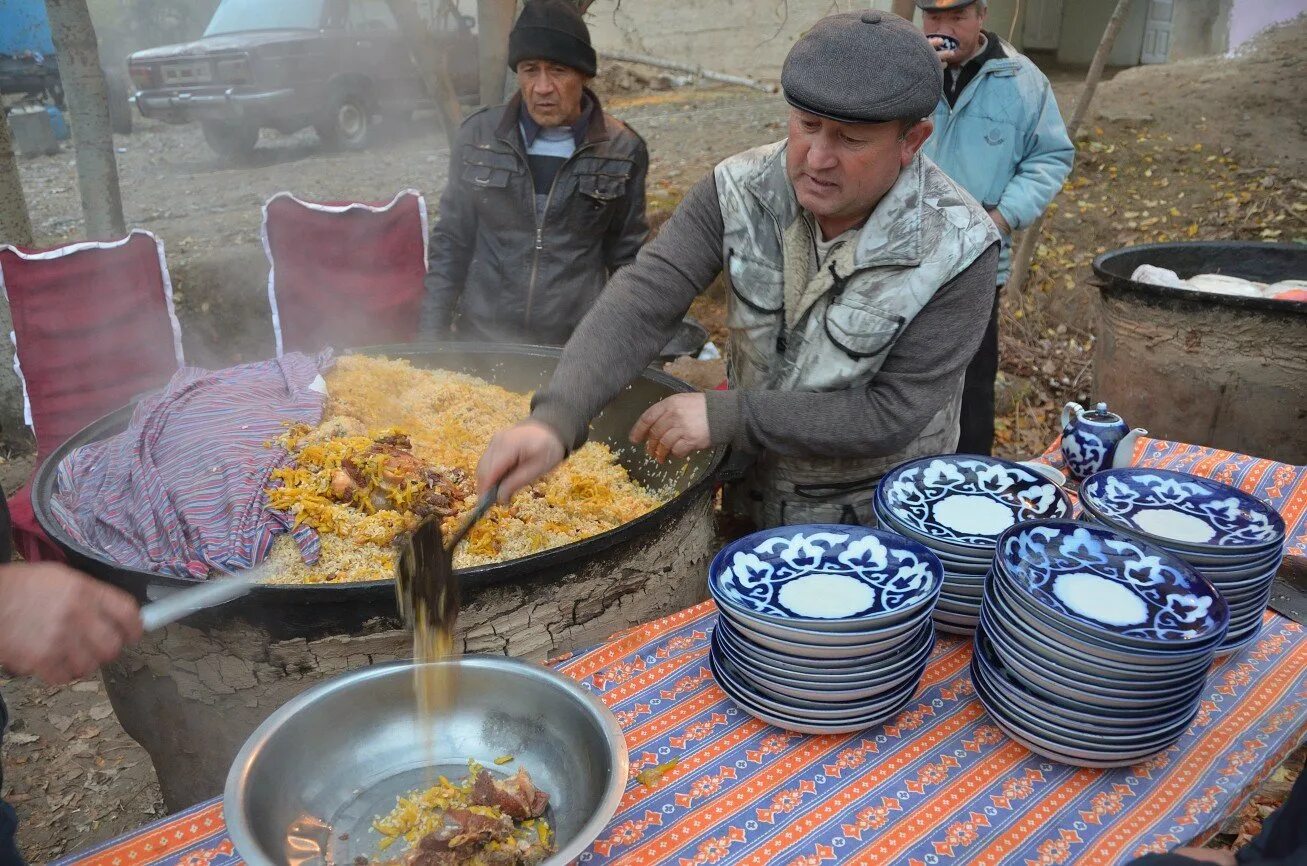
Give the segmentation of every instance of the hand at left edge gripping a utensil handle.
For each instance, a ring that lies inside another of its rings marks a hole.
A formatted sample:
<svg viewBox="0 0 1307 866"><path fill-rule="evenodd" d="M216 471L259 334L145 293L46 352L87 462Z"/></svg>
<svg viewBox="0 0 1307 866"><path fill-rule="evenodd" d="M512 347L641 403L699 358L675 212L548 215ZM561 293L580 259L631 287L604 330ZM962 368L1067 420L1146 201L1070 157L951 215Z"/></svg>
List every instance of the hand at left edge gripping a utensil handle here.
<svg viewBox="0 0 1307 866"><path fill-rule="evenodd" d="M141 639L136 600L55 563L0 567L0 665L51 686L89 677Z"/></svg>

